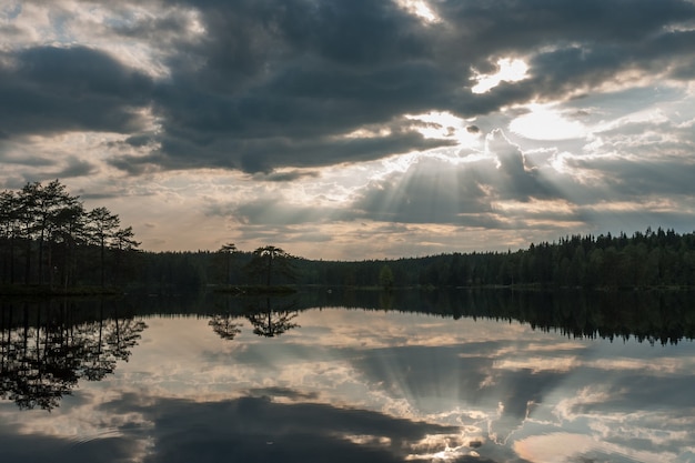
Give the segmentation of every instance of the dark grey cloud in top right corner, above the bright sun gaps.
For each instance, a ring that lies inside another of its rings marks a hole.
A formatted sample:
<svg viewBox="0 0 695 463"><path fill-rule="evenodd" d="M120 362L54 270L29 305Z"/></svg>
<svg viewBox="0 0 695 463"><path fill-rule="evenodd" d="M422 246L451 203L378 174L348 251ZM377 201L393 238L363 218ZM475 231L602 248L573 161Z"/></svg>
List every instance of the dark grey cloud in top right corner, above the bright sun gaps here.
<svg viewBox="0 0 695 463"><path fill-rule="evenodd" d="M580 44L592 50L594 47L601 49L615 46L624 49L626 59L632 59L636 54L635 50L649 50L649 44L657 44L664 37L687 37L688 33L672 34L665 26L687 23L695 16L695 6L682 0L450 0L433 2L432 7L450 24L457 26L449 33L461 40L462 44L476 46L463 47L456 53L476 64L476 60L482 59L479 68L481 72L493 70L492 67L483 67L486 57L510 52L526 54L540 47L550 47L552 50ZM668 56L684 50L661 51L662 56ZM692 53L692 50L685 52ZM580 61L573 62L580 64ZM564 68L555 67L554 71L564 72Z"/></svg>

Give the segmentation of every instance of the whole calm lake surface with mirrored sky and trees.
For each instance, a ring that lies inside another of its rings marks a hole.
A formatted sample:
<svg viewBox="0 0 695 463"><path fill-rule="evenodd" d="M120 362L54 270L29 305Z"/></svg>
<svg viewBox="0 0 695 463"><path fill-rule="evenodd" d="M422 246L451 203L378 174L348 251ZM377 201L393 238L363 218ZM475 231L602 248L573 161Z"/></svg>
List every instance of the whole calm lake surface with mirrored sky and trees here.
<svg viewBox="0 0 695 463"><path fill-rule="evenodd" d="M695 462L693 301L2 301L0 461Z"/></svg>

